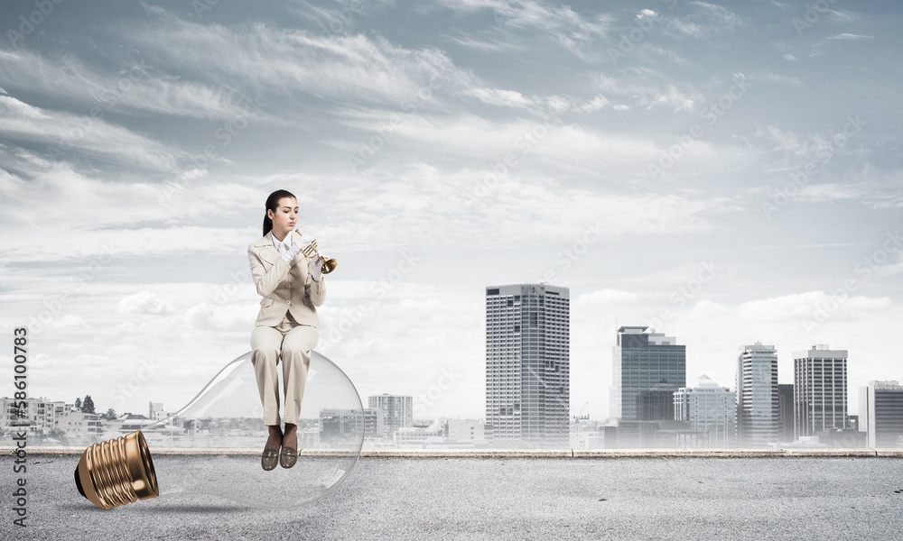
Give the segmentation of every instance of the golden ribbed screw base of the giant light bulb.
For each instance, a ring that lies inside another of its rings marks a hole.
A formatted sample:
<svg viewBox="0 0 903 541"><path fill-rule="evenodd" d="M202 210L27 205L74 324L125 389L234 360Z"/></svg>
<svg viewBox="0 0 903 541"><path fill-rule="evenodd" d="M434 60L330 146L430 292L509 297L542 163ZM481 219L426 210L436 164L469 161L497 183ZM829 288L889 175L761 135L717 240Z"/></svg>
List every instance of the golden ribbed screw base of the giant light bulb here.
<svg viewBox="0 0 903 541"><path fill-rule="evenodd" d="M75 469L75 484L82 496L104 509L160 493L154 461L140 430L85 449Z"/></svg>

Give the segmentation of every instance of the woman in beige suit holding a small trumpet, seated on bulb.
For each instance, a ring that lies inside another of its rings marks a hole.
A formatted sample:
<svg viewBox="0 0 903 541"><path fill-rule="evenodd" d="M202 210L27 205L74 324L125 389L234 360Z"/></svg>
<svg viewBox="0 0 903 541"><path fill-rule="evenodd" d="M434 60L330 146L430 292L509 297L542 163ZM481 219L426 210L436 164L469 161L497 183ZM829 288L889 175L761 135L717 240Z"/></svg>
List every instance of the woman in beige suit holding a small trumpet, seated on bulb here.
<svg viewBox="0 0 903 541"><path fill-rule="evenodd" d="M260 465L269 471L276 461L291 468L298 459L298 417L304 382L311 364L311 351L320 339L317 308L326 298L320 256L306 257L301 251L309 243L294 232L298 200L279 189L266 198L264 236L247 247L251 275L257 293L263 296L251 333L251 362L264 424L269 437ZM283 362L285 431L279 422L279 386L276 364ZM281 450L280 450L281 447Z"/></svg>

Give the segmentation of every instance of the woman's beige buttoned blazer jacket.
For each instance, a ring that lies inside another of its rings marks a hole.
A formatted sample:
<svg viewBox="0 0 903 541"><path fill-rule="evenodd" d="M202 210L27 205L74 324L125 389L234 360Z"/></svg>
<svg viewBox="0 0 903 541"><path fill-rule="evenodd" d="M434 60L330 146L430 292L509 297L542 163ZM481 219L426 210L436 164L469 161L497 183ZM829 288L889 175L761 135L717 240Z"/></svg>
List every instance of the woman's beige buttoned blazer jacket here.
<svg viewBox="0 0 903 541"><path fill-rule="evenodd" d="M292 232L289 243L299 238ZM316 257L316 256L314 256ZM276 252L269 232L247 247L254 285L263 298L254 326L277 326L285 312L302 325L320 325L317 308L326 300L326 280L313 281L311 259L298 253L291 263Z"/></svg>

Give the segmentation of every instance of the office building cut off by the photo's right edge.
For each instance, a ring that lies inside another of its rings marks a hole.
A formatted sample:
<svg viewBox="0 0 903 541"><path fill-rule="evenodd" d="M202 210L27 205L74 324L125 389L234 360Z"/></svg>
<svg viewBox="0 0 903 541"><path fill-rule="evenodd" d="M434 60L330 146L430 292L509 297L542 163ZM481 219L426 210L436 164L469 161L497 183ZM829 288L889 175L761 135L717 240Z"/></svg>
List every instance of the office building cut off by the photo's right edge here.
<svg viewBox="0 0 903 541"><path fill-rule="evenodd" d="M859 388L859 430L868 446L903 447L903 386L898 381L870 381Z"/></svg>

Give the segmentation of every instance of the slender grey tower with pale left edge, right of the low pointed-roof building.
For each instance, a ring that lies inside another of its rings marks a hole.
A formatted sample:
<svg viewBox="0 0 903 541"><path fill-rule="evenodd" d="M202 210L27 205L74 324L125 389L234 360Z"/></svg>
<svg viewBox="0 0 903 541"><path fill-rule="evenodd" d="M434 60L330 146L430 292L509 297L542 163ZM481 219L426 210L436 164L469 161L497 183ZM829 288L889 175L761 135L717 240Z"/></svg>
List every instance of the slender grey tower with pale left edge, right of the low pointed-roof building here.
<svg viewBox="0 0 903 541"><path fill-rule="evenodd" d="M744 345L737 357L737 440L760 447L778 440L777 351Z"/></svg>

